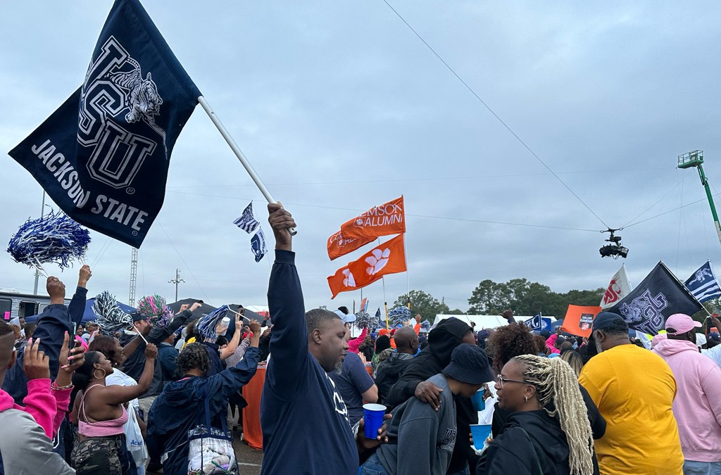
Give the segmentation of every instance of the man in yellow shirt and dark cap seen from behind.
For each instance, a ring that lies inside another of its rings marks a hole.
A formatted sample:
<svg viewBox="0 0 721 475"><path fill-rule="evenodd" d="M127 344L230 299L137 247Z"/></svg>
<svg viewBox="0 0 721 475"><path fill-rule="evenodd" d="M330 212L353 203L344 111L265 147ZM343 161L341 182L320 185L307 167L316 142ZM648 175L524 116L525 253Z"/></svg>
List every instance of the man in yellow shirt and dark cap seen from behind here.
<svg viewBox="0 0 721 475"><path fill-rule="evenodd" d="M610 312L596 316L588 345L596 345L598 355L583 367L579 382L606 419L606 434L596 440L601 475L683 474L671 368L632 345L626 321Z"/></svg>

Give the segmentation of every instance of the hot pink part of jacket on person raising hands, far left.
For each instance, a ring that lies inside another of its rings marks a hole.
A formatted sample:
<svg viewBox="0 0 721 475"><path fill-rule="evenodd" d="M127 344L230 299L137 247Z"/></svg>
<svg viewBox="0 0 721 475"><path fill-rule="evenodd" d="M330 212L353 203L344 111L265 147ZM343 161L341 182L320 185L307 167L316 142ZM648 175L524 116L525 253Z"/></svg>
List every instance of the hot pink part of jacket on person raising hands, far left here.
<svg viewBox="0 0 721 475"><path fill-rule="evenodd" d="M70 404L72 389L50 389L50 379L27 381L27 396L22 402L25 407L15 404L12 396L0 389L0 412L19 409L30 414L37 425L43 427L45 435L55 437Z"/></svg>

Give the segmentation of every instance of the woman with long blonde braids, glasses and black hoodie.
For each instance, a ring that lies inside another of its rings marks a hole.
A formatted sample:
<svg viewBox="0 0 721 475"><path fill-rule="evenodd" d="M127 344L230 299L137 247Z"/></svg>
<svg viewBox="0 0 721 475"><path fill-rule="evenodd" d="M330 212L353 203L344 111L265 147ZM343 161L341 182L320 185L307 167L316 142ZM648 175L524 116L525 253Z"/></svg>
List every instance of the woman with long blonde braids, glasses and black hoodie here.
<svg viewBox="0 0 721 475"><path fill-rule="evenodd" d="M593 434L578 379L560 358L521 355L503 366L498 405L511 412L477 475L591 475Z"/></svg>

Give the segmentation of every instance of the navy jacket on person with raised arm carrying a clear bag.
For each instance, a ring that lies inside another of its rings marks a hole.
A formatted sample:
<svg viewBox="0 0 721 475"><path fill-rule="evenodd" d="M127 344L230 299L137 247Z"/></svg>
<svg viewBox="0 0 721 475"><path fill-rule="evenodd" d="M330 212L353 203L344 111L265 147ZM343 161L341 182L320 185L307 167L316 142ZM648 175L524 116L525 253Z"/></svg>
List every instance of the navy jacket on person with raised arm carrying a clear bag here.
<svg viewBox="0 0 721 475"><path fill-rule="evenodd" d="M151 458L168 453L164 474L187 474L187 432L205 424L205 394L211 397L211 426L226 430L228 398L253 377L259 354L250 347L237 365L214 376L183 378L165 385L150 408L146 439Z"/></svg>

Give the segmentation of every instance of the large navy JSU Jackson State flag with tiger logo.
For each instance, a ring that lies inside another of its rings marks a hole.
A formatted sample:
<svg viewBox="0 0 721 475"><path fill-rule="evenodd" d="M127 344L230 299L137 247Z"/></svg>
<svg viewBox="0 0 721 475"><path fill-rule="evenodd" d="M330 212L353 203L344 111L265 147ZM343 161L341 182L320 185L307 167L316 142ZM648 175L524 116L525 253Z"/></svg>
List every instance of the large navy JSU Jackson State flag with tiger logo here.
<svg viewBox="0 0 721 475"><path fill-rule="evenodd" d="M138 0L116 0L80 89L10 151L68 216L140 247L198 102Z"/></svg>

